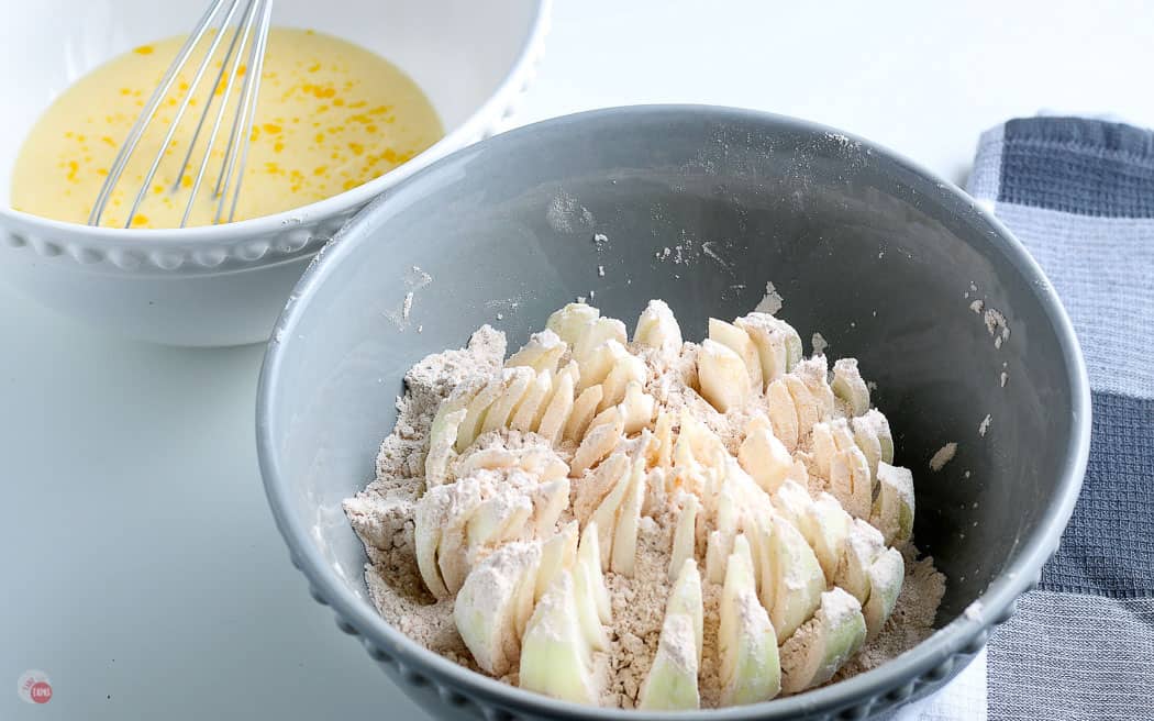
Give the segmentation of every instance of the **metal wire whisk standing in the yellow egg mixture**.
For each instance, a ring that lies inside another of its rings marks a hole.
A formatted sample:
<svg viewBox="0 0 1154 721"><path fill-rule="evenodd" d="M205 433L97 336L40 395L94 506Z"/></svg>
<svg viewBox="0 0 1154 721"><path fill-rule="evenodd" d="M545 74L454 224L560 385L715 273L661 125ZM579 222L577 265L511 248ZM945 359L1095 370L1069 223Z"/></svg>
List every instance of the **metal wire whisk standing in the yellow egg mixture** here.
<svg viewBox="0 0 1154 721"><path fill-rule="evenodd" d="M211 195L212 201L216 202L212 221L232 221L237 212L237 201L240 197L241 180L243 179L245 165L248 159L248 144L253 132L253 117L256 114L256 98L260 93L261 70L264 63L264 52L268 44L271 17L272 0L212 0L209 3L209 8L204 12L204 15L193 29L183 46L181 46L180 52L177 53L175 60L168 66L164 77L160 80L160 84L152 91L132 130L129 130L128 137L120 145L115 159L113 159L108 168L104 185L100 187L96 203L92 205L92 212L88 218L89 225L100 224L100 217L104 215L108 200L112 197L113 189L120 181L133 153L136 152L137 147L141 144L141 138L144 136L149 123L156 117L157 110L164 103L165 98L168 97L170 91L172 91L180 74L185 72L185 66L189 65L189 59L194 55L197 47L207 43L208 47L204 51L203 58L194 63L196 66L195 74L192 82L188 83L188 91L177 107L172 123L168 126L164 141L160 143L159 150L152 159L148 172L144 174L144 180L133 201L132 210L125 220L125 227L132 225L133 218L136 217L152 185L152 180L156 178L165 151L172 143L177 127L185 117L185 112L192 105L192 99L201 85L201 81L204 80L213 58L217 55L217 50L226 36L228 37L228 44L220 61L220 69L208 91L208 102L204 104L204 110L201 111L201 117L196 121L193 140L188 144L188 150L177 172L175 181L168 191L170 194L175 194L181 188L181 183L186 174L189 173L190 166L196 166L195 180L192 183L192 194L188 197L188 203L180 220L180 227L185 227L192 215L193 203L200 193L201 183L209 172L212 148L216 145L222 126L225 125L225 117L230 114L226 111L230 96L237 84L237 77L242 75L240 96L235 102L235 108L231 113L232 121L227 130L228 144L220 160ZM245 62L246 55L247 63ZM247 70L242 68L247 68ZM222 85L222 82L224 82L224 85ZM222 89L219 91L219 104L217 104L217 89ZM197 141L204 130L205 122L212 115L213 106L216 106L216 113L211 122L211 129L204 141L203 157L200 158L198 163L194 163L193 155L197 151Z"/></svg>

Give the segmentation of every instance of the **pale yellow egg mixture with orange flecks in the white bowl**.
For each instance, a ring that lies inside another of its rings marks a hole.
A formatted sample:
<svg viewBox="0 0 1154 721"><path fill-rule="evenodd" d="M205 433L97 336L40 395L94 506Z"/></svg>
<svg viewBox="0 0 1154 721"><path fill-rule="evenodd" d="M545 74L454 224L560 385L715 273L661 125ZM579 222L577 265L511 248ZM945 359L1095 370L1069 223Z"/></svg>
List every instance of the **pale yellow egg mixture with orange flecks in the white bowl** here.
<svg viewBox="0 0 1154 721"><path fill-rule="evenodd" d="M195 89L189 89L189 83L209 44L202 43L198 54L185 65L178 84L133 153L100 225L180 225L225 81L215 89L217 102L197 140L193 163L181 177L181 187L173 190L173 186L213 91L227 40L228 36L223 38ZM57 220L87 223L118 147L183 42L177 37L137 47L96 68L57 98L32 128L16 159L13 206ZM239 66L228 93L227 114L187 225L213 221L217 198L211 195L246 70ZM444 134L436 111L409 76L383 58L332 36L273 28L261 77L234 220L299 208L354 188L409 160ZM144 202L129 221L128 212L148 168L179 104L189 95L189 107L164 151Z"/></svg>

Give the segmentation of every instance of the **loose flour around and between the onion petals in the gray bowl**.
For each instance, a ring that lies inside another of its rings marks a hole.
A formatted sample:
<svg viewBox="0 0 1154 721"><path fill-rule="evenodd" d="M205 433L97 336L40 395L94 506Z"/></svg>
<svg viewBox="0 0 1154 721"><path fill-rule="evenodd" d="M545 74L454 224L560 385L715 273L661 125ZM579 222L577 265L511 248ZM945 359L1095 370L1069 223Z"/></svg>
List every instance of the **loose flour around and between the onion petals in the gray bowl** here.
<svg viewBox="0 0 1154 721"><path fill-rule="evenodd" d="M767 295L773 294L772 284L766 291ZM698 347L685 344L681 358L651 381L646 390L667 407L690 407L727 445L736 445L740 436L734 429L744 428L744 420L727 419L691 391ZM474 670L478 666L454 623L452 599L436 602L421 581L414 557L413 512L417 498L425 490L427 435L437 406L456 385L497 373L505 350L504 335L484 326L467 348L429 355L417 363L405 376L407 390L397 403L396 427L381 445L376 479L344 504L353 528L365 542L369 561L365 578L381 615L414 641ZM510 431L492 442L518 442L511 435ZM557 453L569 460L572 448L560 448ZM579 515L578 487L575 483L571 506ZM659 500L647 501L646 505L652 516L642 518L634 577L606 573L613 624L609 648L598 654L597 667L604 683L602 704L607 706L631 708L636 704L657 652L672 586L668 566L676 510ZM571 519L572 513L567 511L562 523ZM698 532L699 536L705 532L704 524ZM704 548L704 542L703 536L698 538L699 548ZM884 663L932 632L945 579L934 569L932 559L915 561L917 553L912 546L904 554L907 578L893 615L878 637L835 679ZM705 634L698 675L703 707L717 706L721 698L717 651L719 596L720 586L704 580ZM516 660L501 681L517 683Z"/></svg>

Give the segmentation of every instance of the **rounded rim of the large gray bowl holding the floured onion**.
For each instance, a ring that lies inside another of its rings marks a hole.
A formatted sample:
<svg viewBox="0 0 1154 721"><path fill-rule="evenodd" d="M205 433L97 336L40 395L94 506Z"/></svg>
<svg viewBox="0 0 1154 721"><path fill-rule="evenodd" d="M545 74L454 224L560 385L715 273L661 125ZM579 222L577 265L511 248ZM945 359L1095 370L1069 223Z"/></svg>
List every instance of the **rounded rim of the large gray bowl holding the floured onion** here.
<svg viewBox="0 0 1154 721"><path fill-rule="evenodd" d="M544 120L501 134L482 144L488 145L489 149L497 149L515 144L520 137L531 135L538 129L555 129L565 125L602 120L614 121L622 118L652 117L654 114L670 118L696 115L718 122L752 121L774 129L788 129L815 137L835 133L861 143L861 148L867 152L875 153L896 170L912 173L923 181L924 188L919 188L919 195L927 196L931 202L944 205L947 210L969 213L973 219L967 219L967 223L986 224L987 230L992 232L981 234L984 242L989 243L991 249L999 251L1022 277L1022 281L1037 299L1057 336L1067 368L1066 380L1071 389L1072 422L1070 443L1064 449L1062 478L1055 494L1056 497L1039 518L1037 530L1033 536L1022 542L1018 557L1003 569L1002 573L989 584L986 592L965 613L897 659L835 684L749 706L694 712L646 713L644 718L710 719L712 721L755 718L787 719L795 714L829 713L862 703L872 704L883 694L908 684L908 693L905 693L900 699L886 701L889 705L900 705L900 703L912 698L911 694L919 694L923 688L917 683L920 679L924 679L935 671L942 677L947 677L960 668L958 661L961 662L961 666L968 663L988 640L989 631L1010 618L1018 596L1036 587L1042 565L1057 550L1062 533L1078 500L1089 453L1092 412L1089 380L1073 325L1042 269L1009 228L994 217L990 209L977 203L952 182L938 178L904 156L835 128L787 115L737 107L691 104L632 105L586 111ZM417 185L419 178L435 173L440 168L467 162L473 153L478 152L477 148L474 145L462 149L437 160L425 168L420 175L396 188L390 197L400 200L398 196L413 193L413 186ZM415 191L419 193L420 189L418 188ZM288 498L288 491L283 483L279 471L271 422L271 419L276 418L275 411L278 405L273 391L278 385L284 355L290 352L286 348L291 348L292 339L295 336L294 328L308 307L309 298L331 275L332 269L369 238L367 233L361 233L361 228L377 221L382 213L387 217L390 212L395 212L394 209L399 208L399 205L392 203L385 206L381 202L370 204L322 249L298 283L292 300L277 321L272 340L265 350L257 386L256 442L264 489L277 528L290 548L293 563L308 579L314 596L320 602L332 607L338 616L338 622L344 621L355 632L359 632L364 637L366 646L387 649L406 668L427 671L434 678L445 679L454 686L460 688L466 694L480 696L487 701L501 706L544 716L604 720L637 719L639 716L632 709L582 706L503 684L420 646L390 625L372 603L366 603L364 599L357 598L345 586L309 541L307 528L297 521L292 512L293 504ZM282 338L287 340L282 343ZM936 678L931 678L930 683L934 681Z"/></svg>

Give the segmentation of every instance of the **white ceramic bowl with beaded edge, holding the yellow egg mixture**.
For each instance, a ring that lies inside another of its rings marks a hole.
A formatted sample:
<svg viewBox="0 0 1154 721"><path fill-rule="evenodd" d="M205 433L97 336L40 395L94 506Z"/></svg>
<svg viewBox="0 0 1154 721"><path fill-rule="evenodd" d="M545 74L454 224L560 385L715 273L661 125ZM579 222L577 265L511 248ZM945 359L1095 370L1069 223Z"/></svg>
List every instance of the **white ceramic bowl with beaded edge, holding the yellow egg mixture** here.
<svg viewBox="0 0 1154 721"><path fill-rule="evenodd" d="M288 212L187 230L123 231L13 210L20 145L52 99L126 50L187 32L207 0L38 0L0 23L0 277L44 306L173 345L268 338L309 258L354 212L434 159L499 132L540 55L550 0L276 0L273 24L377 52L433 102L445 137L359 188Z"/></svg>

